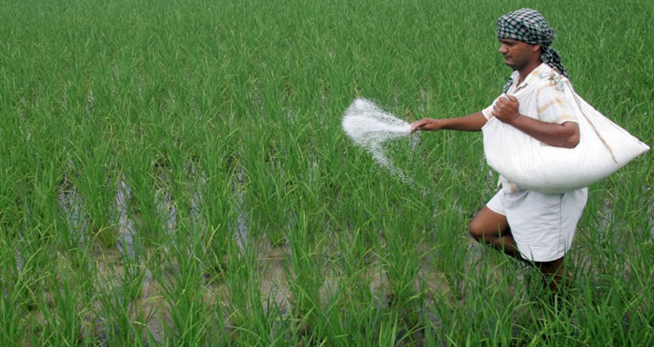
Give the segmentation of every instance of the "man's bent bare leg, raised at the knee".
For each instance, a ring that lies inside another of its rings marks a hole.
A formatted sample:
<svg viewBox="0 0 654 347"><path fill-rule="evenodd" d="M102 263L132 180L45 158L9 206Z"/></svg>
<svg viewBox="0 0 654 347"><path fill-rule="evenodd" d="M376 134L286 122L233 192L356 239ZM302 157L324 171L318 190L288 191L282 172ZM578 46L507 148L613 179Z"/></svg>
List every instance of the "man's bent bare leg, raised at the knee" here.
<svg viewBox="0 0 654 347"><path fill-rule="evenodd" d="M520 258L506 216L484 206L472 219L470 233L480 243L490 244L504 253Z"/></svg>

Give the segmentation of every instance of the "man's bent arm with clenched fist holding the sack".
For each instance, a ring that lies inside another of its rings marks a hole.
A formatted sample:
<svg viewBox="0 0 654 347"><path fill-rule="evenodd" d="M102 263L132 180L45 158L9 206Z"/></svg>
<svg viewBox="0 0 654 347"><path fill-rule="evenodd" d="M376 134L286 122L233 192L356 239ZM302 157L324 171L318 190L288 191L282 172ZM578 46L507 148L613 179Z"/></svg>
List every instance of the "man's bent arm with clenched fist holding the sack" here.
<svg viewBox="0 0 654 347"><path fill-rule="evenodd" d="M500 97L493 108L493 115L501 122L510 124L544 144L555 147L574 148L579 144L579 125L574 122L562 124L541 122L518 112L518 99L513 95Z"/></svg>

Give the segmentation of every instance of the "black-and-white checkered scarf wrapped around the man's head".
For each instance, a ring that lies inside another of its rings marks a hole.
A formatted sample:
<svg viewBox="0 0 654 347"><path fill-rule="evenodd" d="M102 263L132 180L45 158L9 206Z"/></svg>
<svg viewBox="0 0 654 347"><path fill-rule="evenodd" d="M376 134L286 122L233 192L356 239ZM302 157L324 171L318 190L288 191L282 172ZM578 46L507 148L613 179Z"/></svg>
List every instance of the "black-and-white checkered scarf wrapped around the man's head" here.
<svg viewBox="0 0 654 347"><path fill-rule="evenodd" d="M568 77L560 61L559 52L550 47L554 41L554 29L540 15L540 12L530 8L521 8L498 18L498 38L518 40L531 45L540 45L540 61L555 67L560 74Z"/></svg>

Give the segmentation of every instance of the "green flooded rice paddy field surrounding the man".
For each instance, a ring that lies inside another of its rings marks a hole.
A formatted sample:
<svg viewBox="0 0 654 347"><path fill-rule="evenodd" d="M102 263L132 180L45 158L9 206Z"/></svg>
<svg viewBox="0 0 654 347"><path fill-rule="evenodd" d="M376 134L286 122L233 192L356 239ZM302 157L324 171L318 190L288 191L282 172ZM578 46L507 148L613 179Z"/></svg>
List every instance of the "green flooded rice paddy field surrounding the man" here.
<svg viewBox="0 0 654 347"><path fill-rule="evenodd" d="M576 91L654 144L654 3L8 1L0 345L654 343L654 157L590 186L565 300L475 243L480 133L343 133L486 107L498 16L538 8Z"/></svg>

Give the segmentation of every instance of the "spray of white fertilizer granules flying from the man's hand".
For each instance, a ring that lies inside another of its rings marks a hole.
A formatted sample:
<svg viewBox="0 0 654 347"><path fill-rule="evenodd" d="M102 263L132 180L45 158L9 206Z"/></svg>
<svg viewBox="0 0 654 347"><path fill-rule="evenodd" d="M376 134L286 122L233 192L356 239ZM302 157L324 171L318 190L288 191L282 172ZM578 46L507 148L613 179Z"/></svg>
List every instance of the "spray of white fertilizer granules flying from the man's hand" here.
<svg viewBox="0 0 654 347"><path fill-rule="evenodd" d="M388 168L402 181L412 183L386 156L383 144L411 134L408 124L392 114L383 112L376 104L356 99L345 110L342 127L355 144L362 146L383 167Z"/></svg>

